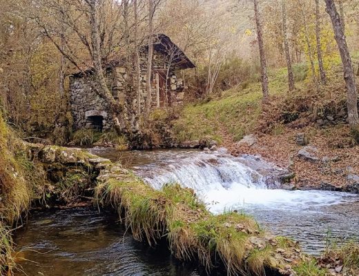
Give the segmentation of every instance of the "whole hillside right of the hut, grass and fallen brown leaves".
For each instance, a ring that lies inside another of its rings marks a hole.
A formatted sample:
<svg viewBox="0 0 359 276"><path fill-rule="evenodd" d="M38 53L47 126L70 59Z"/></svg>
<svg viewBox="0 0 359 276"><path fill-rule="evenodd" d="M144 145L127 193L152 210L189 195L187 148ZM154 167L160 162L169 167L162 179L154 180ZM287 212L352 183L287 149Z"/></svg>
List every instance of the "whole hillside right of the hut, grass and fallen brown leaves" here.
<svg viewBox="0 0 359 276"><path fill-rule="evenodd" d="M189 104L174 122L175 139L215 139L234 155L262 155L294 172L293 188L358 193L359 146L347 125L345 83L339 60L327 75L329 83L318 91L308 81L305 67L296 66L296 89L289 93L287 70L272 71L271 99L265 106L259 82ZM249 134L255 135L253 145L239 142ZM297 141L303 137L303 142ZM309 152L313 159L298 153L301 149L313 149L304 148L308 144L314 148L314 152Z"/></svg>

